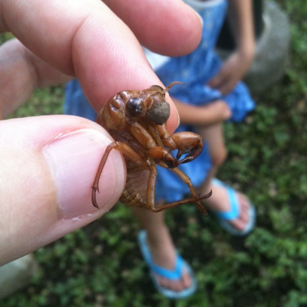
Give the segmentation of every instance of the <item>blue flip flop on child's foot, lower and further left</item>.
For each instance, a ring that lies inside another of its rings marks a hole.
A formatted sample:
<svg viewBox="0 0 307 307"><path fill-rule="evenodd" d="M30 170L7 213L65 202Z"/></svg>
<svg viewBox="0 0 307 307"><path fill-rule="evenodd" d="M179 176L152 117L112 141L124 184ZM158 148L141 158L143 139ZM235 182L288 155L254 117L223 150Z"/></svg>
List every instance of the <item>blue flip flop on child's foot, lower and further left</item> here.
<svg viewBox="0 0 307 307"><path fill-rule="evenodd" d="M150 269L151 279L154 282L156 289L160 293L162 293L164 296L168 298L179 299L179 298L186 298L195 292L197 288L197 281L195 275L190 265L180 255L177 254L175 269L168 270L152 262L150 249L147 244L147 233L145 230L141 230L139 232L137 239L144 261L147 263ZM189 288L186 288L180 292L164 288L157 281L156 275L160 275L170 280L180 279L182 277L183 270L186 270L188 274L190 274L192 278L192 284Z"/></svg>

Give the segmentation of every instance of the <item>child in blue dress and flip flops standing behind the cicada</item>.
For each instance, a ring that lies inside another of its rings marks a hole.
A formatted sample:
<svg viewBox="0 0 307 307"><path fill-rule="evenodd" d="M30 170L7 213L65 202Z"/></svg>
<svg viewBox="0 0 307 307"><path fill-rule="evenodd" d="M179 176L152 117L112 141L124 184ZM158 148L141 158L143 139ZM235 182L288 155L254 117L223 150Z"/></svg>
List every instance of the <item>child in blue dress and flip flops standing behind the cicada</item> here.
<svg viewBox="0 0 307 307"><path fill-rule="evenodd" d="M170 90L182 123L178 130L195 131L206 141L202 154L181 168L200 192L214 191L206 205L216 213L220 224L234 235L244 235L254 225L253 206L244 195L213 177L226 158L222 123L227 119L240 121L254 107L245 85L236 84L253 56L251 1L229 0L237 49L224 64L213 49L225 18L226 0L185 2L199 12L204 21L200 46L192 54L178 58L148 50L145 54L166 86L172 81L186 84L175 85ZM65 113L95 120L96 114L77 81L67 85ZM170 202L189 194L186 185L172 172L160 168L158 173L157 201ZM169 298L191 295L196 289L196 279L188 263L176 253L163 212L152 213L141 208L132 208L132 211L145 229L139 234L139 245L158 290Z"/></svg>

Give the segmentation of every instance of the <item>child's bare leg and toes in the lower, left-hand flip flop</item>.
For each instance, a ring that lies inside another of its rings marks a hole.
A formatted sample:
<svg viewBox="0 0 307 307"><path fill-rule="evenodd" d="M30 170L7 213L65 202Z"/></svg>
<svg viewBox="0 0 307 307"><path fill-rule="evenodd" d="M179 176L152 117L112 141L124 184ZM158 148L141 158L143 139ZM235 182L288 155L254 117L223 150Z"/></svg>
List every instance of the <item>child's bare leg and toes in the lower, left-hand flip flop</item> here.
<svg viewBox="0 0 307 307"><path fill-rule="evenodd" d="M164 222L164 212L154 213L147 209L131 208L141 226L147 232L147 243L155 264L174 270L176 248ZM157 275L157 281L165 288L181 291L192 284L191 276L184 272L181 280L170 280Z"/></svg>

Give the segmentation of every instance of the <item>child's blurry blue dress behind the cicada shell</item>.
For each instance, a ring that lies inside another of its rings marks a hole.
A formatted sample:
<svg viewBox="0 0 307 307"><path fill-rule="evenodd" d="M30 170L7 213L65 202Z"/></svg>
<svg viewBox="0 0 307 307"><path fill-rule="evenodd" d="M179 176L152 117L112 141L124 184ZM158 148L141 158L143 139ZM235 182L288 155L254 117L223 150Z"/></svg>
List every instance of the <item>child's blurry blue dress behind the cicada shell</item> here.
<svg viewBox="0 0 307 307"><path fill-rule="evenodd" d="M198 3L196 0L186 0ZM232 92L223 96L218 90L211 89L205 84L219 71L222 62L214 51L220 29L227 11L227 1L217 2L214 6L201 6L199 2L198 13L204 21L202 40L198 48L191 54L183 57L163 57L163 63L155 67L151 63L156 74L166 86L173 81L184 82L185 85L175 85L169 90L169 94L182 102L196 106L205 105L216 99L227 102L233 121L241 121L246 114L254 108L254 101L250 97L247 87L239 82ZM204 2L205 4L206 2ZM146 54L146 51L145 51ZM147 51L150 62L150 52ZM159 56L158 56L159 57ZM96 114L87 102L77 80L69 82L66 86L66 99L64 104L66 114L83 116L95 120ZM196 132L192 125L181 124L178 131ZM176 152L174 152L176 155ZM206 179L211 169L211 160L208 146L194 161L181 165L180 169L191 178L194 187L200 186ZM167 202L183 199L190 191L181 179L168 169L158 166L158 178L156 184L156 200L164 199Z"/></svg>

